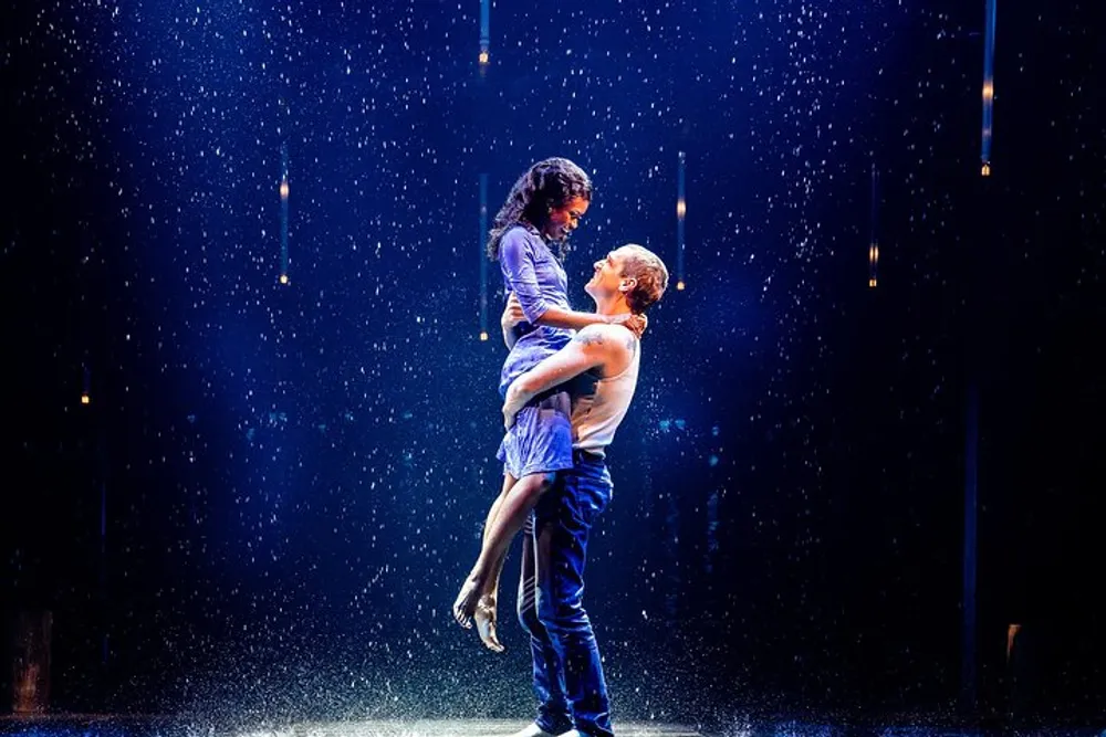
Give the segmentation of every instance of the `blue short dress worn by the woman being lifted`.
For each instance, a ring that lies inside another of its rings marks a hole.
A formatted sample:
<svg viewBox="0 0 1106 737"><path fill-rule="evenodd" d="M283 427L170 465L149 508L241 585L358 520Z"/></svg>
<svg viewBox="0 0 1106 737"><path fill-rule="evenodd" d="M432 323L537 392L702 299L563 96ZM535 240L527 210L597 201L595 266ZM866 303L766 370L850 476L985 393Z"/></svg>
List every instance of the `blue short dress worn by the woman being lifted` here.
<svg viewBox="0 0 1106 737"><path fill-rule="evenodd" d="M532 225L517 225L500 241L499 263L508 292L514 292L526 319L514 327L515 344L500 372L499 393L542 359L568 345L572 331L538 325L550 307L571 309L564 267ZM532 473L571 468L572 402L564 386L554 387L526 403L503 436L495 454L515 478Z"/></svg>

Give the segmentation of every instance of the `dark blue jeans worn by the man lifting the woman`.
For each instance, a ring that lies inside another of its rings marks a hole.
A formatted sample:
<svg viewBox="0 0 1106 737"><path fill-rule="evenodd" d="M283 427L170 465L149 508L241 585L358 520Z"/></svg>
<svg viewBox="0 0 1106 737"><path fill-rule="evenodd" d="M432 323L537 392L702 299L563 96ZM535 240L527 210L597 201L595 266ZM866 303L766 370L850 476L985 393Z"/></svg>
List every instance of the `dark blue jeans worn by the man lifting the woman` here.
<svg viewBox="0 0 1106 737"><path fill-rule="evenodd" d="M530 633L538 726L554 735L575 727L591 737L613 737L607 684L583 597L587 535L614 486L603 459L573 451L573 463L557 473L526 522L519 621Z"/></svg>

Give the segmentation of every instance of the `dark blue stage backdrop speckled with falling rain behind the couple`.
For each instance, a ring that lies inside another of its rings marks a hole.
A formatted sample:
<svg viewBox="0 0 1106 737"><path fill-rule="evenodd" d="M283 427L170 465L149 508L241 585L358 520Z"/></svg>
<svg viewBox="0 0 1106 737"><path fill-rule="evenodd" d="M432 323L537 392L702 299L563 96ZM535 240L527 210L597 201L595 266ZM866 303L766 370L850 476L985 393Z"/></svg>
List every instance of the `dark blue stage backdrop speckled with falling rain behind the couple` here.
<svg viewBox="0 0 1106 737"><path fill-rule="evenodd" d="M982 179L983 3L525 4L482 75L474 1L4 7L0 593L54 705L528 714L519 628L448 615L500 473L479 176L592 173L583 309L624 242L675 275L686 151L588 579L616 716L951 704L972 376L982 703L1018 622L1019 698L1100 710L1088 6L1000 7Z"/></svg>

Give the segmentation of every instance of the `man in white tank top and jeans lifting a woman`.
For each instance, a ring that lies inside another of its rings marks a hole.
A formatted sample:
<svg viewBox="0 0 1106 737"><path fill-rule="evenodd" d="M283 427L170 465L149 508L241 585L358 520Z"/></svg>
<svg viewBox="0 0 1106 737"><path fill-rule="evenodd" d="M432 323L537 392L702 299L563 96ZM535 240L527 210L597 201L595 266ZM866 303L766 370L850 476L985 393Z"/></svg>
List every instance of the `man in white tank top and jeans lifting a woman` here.
<svg viewBox="0 0 1106 737"><path fill-rule="evenodd" d="M667 286L664 262L628 244L595 263L584 289L601 315L640 315ZM517 317L512 309L509 305L504 325ZM606 448L629 408L639 365L640 341L629 329L589 325L518 377L507 392L503 419L510 427L532 397L570 382L574 464L557 473L552 488L529 501L533 514L524 530L518 613L531 638L539 712L517 737L613 735L599 651L583 607L583 576L588 531L613 492ZM494 641L494 631L490 638Z"/></svg>

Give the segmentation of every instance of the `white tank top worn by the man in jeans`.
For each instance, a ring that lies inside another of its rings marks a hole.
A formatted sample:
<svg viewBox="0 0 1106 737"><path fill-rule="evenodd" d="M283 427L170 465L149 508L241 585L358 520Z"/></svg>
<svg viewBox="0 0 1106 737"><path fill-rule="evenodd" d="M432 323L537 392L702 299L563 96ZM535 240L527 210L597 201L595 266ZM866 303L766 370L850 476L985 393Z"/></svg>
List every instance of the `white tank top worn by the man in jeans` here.
<svg viewBox="0 0 1106 737"><path fill-rule="evenodd" d="M596 455L615 438L618 423L626 417L629 401L637 387L637 371L641 365L641 341L634 339L634 357L622 373L601 379L589 371L573 380L572 446Z"/></svg>

